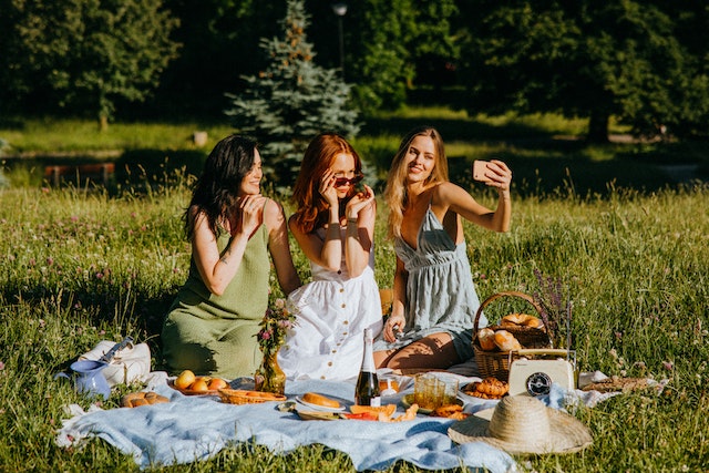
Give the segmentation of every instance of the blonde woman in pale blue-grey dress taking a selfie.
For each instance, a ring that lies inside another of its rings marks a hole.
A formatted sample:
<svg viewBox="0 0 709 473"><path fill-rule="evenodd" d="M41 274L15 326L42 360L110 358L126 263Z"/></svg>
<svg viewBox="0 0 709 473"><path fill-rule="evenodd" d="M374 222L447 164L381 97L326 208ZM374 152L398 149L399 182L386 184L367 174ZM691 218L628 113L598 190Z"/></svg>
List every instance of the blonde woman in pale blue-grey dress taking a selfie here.
<svg viewBox="0 0 709 473"><path fill-rule="evenodd" d="M473 356L471 329L480 300L462 219L507 232L512 214L510 168L491 161L485 175L499 192L495 210L449 182L443 140L434 128L412 130L401 141L384 189L397 269L391 315L374 341L379 368L446 369Z"/></svg>

